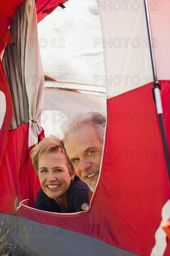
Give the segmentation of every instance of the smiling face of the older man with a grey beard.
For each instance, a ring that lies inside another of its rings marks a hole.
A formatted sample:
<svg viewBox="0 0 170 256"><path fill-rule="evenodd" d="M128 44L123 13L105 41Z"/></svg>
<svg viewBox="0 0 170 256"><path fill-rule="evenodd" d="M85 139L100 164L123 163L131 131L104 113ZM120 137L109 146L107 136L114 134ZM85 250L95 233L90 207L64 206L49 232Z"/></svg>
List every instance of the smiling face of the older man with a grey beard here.
<svg viewBox="0 0 170 256"><path fill-rule="evenodd" d="M96 128L83 124L72 130L65 138L65 148L78 177L94 191L103 148Z"/></svg>

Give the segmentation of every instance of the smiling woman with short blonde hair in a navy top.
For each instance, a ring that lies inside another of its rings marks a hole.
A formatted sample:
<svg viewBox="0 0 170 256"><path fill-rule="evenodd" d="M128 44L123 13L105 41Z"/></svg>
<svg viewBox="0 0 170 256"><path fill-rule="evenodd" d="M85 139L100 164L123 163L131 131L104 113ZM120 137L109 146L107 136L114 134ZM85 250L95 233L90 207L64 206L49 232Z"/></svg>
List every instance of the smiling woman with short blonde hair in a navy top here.
<svg viewBox="0 0 170 256"><path fill-rule="evenodd" d="M31 158L41 185L36 209L59 213L82 211L82 204L89 203L89 189L75 176L64 141L54 135L44 138L32 149Z"/></svg>

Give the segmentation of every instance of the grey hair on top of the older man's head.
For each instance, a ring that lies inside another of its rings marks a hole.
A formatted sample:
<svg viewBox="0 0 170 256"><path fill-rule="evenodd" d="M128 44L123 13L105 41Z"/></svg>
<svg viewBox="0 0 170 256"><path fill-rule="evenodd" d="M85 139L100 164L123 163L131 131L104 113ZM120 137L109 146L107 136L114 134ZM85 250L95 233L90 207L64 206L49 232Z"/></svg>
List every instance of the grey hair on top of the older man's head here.
<svg viewBox="0 0 170 256"><path fill-rule="evenodd" d="M65 123L62 125L61 130L64 133L64 136L72 130L76 130L77 128L83 126L83 124L92 124L96 128L98 132L98 136L100 140L104 141L105 134L105 124L106 118L101 113L96 112L79 112L73 116L71 116Z"/></svg>

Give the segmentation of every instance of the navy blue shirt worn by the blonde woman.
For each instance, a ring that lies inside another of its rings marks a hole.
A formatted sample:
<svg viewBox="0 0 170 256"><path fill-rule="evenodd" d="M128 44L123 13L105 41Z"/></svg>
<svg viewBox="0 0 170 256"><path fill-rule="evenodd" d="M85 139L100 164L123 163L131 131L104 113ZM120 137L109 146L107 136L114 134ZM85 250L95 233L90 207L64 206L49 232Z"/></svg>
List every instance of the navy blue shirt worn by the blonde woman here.
<svg viewBox="0 0 170 256"><path fill-rule="evenodd" d="M75 176L71 181L67 191L66 200L69 206L67 213L82 211L81 206L83 203L89 203L89 188L82 182L78 176ZM35 208L49 212L59 212L59 205L54 200L49 198L42 189L39 189Z"/></svg>

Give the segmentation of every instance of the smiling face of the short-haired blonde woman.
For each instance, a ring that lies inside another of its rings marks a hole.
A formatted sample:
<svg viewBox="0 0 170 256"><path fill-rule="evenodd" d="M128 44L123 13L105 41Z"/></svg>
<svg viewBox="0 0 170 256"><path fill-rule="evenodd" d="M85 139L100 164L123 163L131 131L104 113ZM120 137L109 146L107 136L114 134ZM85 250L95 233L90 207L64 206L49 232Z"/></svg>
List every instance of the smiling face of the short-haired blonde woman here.
<svg viewBox="0 0 170 256"><path fill-rule="evenodd" d="M38 175L44 193L56 201L66 197L74 177L74 174L70 175L68 162L61 151L40 154Z"/></svg>

